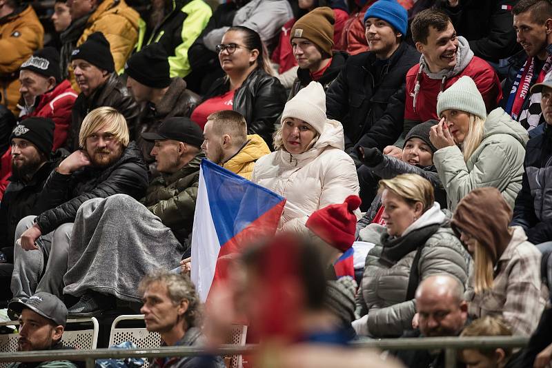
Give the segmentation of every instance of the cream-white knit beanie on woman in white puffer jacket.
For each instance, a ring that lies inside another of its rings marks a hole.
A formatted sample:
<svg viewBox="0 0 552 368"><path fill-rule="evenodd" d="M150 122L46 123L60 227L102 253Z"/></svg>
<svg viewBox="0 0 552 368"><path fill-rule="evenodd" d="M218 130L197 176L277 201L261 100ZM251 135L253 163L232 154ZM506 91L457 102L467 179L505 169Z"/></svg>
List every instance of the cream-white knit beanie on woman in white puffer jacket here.
<svg viewBox="0 0 552 368"><path fill-rule="evenodd" d="M326 125L326 94L322 84L312 81L297 92L284 106L282 122L286 118L295 118L310 124L318 134L324 132Z"/></svg>

